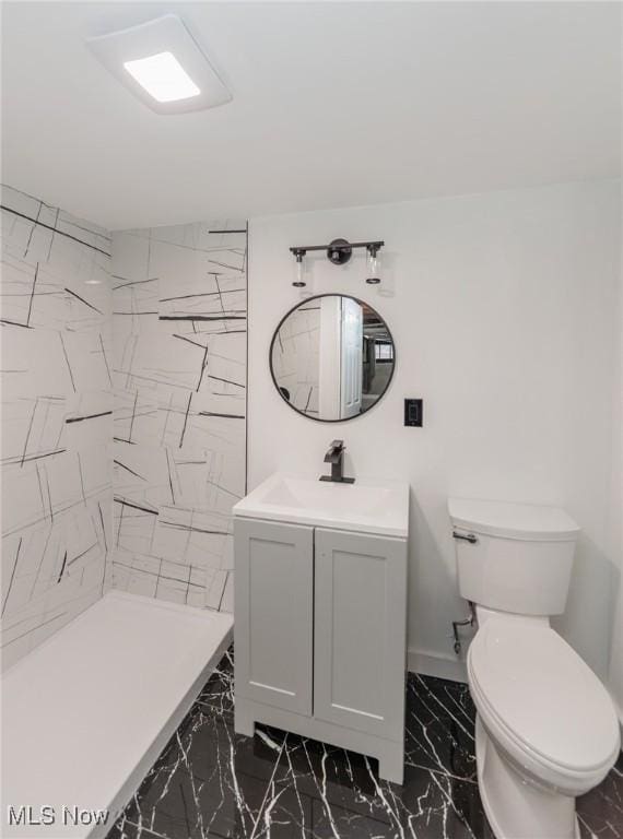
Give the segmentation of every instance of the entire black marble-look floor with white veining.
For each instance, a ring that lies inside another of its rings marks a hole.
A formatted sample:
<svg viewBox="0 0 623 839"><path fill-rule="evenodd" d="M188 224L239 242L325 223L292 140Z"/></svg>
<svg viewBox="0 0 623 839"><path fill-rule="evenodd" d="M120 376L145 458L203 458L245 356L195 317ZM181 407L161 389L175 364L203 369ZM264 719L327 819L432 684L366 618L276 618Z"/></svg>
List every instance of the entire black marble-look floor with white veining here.
<svg viewBox="0 0 623 839"><path fill-rule="evenodd" d="M230 650L107 839L493 839L467 685L409 674L404 784L376 760L258 726L234 733ZM583 839L623 839L623 759L578 800Z"/></svg>

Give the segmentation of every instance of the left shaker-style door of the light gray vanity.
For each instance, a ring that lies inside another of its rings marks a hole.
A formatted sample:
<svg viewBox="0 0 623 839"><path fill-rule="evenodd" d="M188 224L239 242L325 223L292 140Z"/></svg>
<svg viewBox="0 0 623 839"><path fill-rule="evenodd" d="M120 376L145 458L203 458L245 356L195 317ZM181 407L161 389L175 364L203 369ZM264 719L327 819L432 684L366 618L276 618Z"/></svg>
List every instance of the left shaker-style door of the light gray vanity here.
<svg viewBox="0 0 623 839"><path fill-rule="evenodd" d="M314 530L234 521L235 690L312 714Z"/></svg>

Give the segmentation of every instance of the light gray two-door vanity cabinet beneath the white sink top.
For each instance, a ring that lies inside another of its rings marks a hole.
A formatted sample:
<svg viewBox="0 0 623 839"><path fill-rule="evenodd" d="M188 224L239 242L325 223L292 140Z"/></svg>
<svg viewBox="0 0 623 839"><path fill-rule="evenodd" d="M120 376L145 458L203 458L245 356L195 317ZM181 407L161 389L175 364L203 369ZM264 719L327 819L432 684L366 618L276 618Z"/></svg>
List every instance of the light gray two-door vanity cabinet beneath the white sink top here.
<svg viewBox="0 0 623 839"><path fill-rule="evenodd" d="M407 540L236 516L235 728L263 722L402 782Z"/></svg>

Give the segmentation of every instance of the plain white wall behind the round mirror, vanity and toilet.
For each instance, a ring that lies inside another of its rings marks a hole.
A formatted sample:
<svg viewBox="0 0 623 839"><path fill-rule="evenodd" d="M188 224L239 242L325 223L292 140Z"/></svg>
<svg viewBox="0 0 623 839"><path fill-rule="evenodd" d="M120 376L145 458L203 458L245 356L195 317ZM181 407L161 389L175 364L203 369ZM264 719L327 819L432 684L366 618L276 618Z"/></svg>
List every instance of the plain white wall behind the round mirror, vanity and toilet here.
<svg viewBox="0 0 623 839"><path fill-rule="evenodd" d="M461 675L449 639L463 616L448 495L561 504L583 535L565 637L606 674L611 627L611 500L618 182L256 218L249 243L249 488L277 469L324 471L343 437L346 471L412 486L410 665ZM383 238L384 283L356 257L318 258L314 293L345 292L386 318L397 345L391 387L369 413L324 425L291 411L268 352L299 299L292 245ZM402 424L424 399L424 427Z"/></svg>

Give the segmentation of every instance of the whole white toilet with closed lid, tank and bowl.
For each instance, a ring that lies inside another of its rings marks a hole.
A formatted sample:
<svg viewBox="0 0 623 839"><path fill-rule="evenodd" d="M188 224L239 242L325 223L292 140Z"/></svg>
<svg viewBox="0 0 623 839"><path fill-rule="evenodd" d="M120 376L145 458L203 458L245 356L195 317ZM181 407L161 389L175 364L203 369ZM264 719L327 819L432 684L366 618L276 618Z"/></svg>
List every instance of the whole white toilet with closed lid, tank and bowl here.
<svg viewBox="0 0 623 839"><path fill-rule="evenodd" d="M498 839L578 839L575 797L621 747L613 702L550 627L565 607L579 528L555 507L451 498L478 782Z"/></svg>

